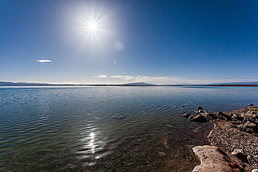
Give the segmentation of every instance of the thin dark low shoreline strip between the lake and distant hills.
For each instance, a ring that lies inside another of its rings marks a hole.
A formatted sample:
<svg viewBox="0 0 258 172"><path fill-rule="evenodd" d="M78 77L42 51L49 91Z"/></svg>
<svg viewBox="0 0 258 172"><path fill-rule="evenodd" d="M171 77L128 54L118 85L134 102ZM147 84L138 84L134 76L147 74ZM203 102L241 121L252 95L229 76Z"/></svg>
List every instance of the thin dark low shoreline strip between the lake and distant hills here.
<svg viewBox="0 0 258 172"><path fill-rule="evenodd" d="M40 84L40 85L0 85L0 86L141 86L141 85L99 85L99 84L89 84L89 85L63 85L63 84ZM151 86L151 85L143 85ZM167 86L167 85L153 85L153 86ZM173 85L173 86L186 86L186 85ZM191 86L258 86L258 85L191 85Z"/></svg>

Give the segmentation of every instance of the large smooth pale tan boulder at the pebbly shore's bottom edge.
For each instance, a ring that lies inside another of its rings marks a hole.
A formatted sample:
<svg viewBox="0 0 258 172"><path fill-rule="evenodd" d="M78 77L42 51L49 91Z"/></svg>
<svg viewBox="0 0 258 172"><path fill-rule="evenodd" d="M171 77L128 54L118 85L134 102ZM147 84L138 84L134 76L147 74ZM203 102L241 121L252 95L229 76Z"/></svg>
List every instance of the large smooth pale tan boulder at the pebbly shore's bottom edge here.
<svg viewBox="0 0 258 172"><path fill-rule="evenodd" d="M193 172L241 172L240 167L216 146L196 146L193 151L201 161Z"/></svg>

